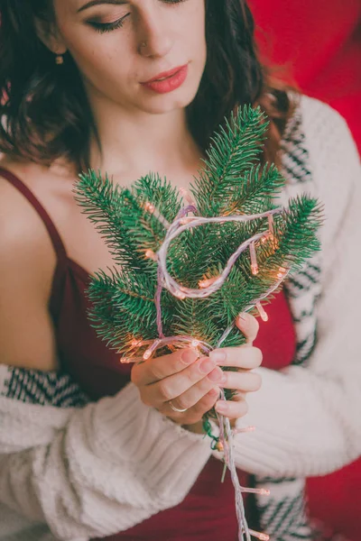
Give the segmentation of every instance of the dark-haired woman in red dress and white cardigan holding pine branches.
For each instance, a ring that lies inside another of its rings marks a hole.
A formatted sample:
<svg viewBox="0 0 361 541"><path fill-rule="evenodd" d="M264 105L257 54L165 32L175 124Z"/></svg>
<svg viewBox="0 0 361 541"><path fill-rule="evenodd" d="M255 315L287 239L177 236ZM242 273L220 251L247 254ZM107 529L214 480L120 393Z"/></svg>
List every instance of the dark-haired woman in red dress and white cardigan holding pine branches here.
<svg viewBox="0 0 361 541"><path fill-rule="evenodd" d="M360 451L359 163L345 123L270 85L243 1L0 6L3 537L236 539L222 456L199 434L231 387L224 414L256 426L236 437L241 480L272 486L267 502L247 500L248 515L274 539L310 539L304 478ZM264 158L282 158L283 197L307 189L324 201L323 259L289 280L258 335L252 316L237 319L248 344L226 359L188 350L130 373L86 317L89 274L114 261L73 200L77 173L90 166L126 186L156 170L188 188L242 103L272 119ZM232 381L221 380L227 365L242 369Z"/></svg>

